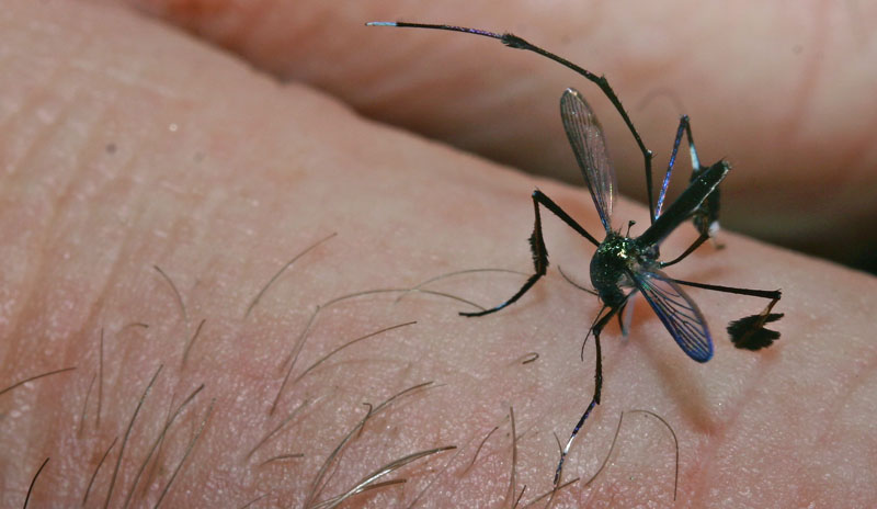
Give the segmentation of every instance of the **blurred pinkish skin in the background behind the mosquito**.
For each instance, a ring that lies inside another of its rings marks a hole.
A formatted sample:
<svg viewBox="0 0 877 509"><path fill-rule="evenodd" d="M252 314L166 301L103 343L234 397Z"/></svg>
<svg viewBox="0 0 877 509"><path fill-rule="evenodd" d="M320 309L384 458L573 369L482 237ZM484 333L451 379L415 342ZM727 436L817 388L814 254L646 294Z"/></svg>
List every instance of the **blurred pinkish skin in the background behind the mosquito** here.
<svg viewBox="0 0 877 509"><path fill-rule="evenodd" d="M134 4L366 116L582 184L557 120L560 92L574 86L603 123L622 194L646 203L641 155L592 83L497 41L360 25L402 20L513 32L608 78L656 152L656 182L679 116L688 114L703 162L733 166L721 188L724 227L877 271L873 4ZM683 152L671 200L688 169Z"/></svg>

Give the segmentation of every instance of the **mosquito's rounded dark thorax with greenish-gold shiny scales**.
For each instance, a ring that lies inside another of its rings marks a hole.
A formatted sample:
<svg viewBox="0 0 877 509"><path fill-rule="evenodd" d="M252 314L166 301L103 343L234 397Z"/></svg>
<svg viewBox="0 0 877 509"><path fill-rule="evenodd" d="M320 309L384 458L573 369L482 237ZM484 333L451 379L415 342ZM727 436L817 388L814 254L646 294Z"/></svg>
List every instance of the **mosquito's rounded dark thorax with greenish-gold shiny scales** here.
<svg viewBox="0 0 877 509"><path fill-rule="evenodd" d="M642 252L630 237L612 231L591 259L591 284L600 299L610 307L620 306L626 296L623 286L633 286L630 273L641 263Z"/></svg>

